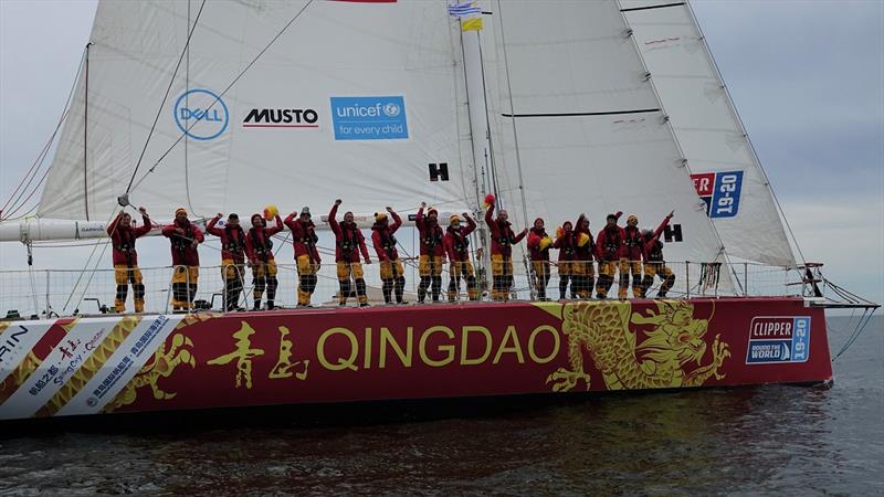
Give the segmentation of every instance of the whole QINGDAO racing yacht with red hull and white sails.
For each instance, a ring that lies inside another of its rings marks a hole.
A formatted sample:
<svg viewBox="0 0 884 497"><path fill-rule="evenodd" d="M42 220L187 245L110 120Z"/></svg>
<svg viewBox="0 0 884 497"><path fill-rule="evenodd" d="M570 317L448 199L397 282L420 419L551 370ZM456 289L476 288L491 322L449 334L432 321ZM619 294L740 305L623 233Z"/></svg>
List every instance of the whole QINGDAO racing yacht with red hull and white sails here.
<svg viewBox="0 0 884 497"><path fill-rule="evenodd" d="M675 286L537 299L518 245L508 303L222 313L204 295L180 315L161 267L146 313L90 316L96 260L77 311L46 283L35 319L0 321L0 419L831 383L824 309L876 307L800 256L687 2L101 0L51 144L35 215L0 219L0 241L106 247L129 204L158 228L179 207L343 198L366 228L387 205L413 225L424 201L481 220L494 195L522 226L674 210ZM490 235L471 237L487 288Z"/></svg>

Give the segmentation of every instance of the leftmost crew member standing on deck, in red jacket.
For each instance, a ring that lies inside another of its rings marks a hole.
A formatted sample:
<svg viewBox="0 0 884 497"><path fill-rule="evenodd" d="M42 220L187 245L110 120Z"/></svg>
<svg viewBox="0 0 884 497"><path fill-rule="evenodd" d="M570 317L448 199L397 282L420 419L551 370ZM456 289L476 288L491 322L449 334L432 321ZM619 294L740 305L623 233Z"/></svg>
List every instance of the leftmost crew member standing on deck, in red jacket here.
<svg viewBox="0 0 884 497"><path fill-rule="evenodd" d="M117 284L117 295L114 308L117 313L126 311L126 294L131 283L133 302L136 313L145 311L145 284L141 279L141 269L138 268L138 253L135 251L135 240L146 235L150 226L150 218L145 208L138 208L141 213L141 226L133 225L131 215L119 211L119 214L107 225L107 234L114 247L114 279Z"/></svg>

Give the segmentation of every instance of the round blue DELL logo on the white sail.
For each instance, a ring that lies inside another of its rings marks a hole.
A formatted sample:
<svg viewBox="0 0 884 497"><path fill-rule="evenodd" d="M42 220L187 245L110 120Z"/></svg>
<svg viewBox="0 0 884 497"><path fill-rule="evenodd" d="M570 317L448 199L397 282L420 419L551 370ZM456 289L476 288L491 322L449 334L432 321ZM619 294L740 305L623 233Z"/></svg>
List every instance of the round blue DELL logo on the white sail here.
<svg viewBox="0 0 884 497"><path fill-rule="evenodd" d="M190 89L175 103L175 124L181 133L196 140L218 138L228 129L229 123L227 104L208 89Z"/></svg>

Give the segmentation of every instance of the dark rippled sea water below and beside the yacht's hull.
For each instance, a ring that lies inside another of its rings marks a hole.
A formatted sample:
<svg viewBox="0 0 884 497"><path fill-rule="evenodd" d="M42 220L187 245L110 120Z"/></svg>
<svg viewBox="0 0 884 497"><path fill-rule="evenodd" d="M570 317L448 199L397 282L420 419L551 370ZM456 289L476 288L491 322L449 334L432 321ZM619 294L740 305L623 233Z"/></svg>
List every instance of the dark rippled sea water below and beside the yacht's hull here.
<svg viewBox="0 0 884 497"><path fill-rule="evenodd" d="M882 493L884 335L873 325L835 363L831 390L614 394L389 424L357 411L320 427L255 413L183 430L4 433L0 493Z"/></svg>

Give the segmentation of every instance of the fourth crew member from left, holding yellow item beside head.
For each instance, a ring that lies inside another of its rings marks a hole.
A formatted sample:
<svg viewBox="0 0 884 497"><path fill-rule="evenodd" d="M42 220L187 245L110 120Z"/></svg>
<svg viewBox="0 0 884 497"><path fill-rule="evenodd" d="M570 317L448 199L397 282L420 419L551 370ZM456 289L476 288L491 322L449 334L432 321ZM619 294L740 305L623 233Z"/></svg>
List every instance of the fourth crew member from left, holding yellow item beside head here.
<svg viewBox="0 0 884 497"><path fill-rule="evenodd" d="M245 253L249 254L249 265L252 266L252 297L254 298L254 310L261 309L261 298L264 296L264 288L267 289L267 309L272 310L276 298L276 287L280 281L276 279L276 260L273 257L273 235L283 231L283 220L273 210L264 211L265 215L252 214L252 228L245 236ZM276 225L266 228L266 218L276 220Z"/></svg>

